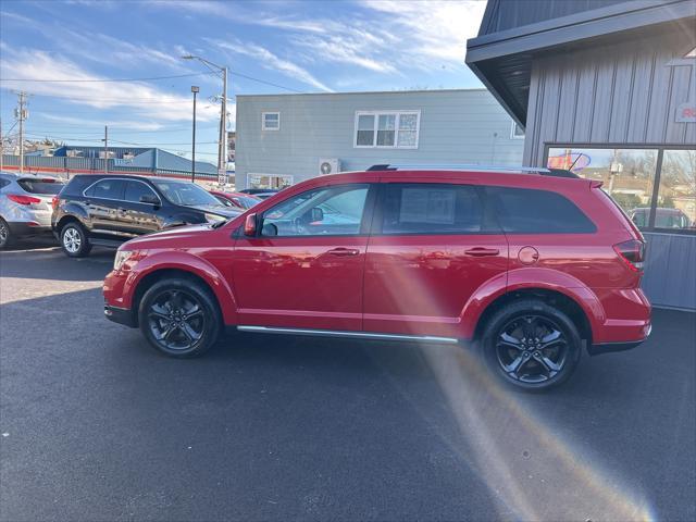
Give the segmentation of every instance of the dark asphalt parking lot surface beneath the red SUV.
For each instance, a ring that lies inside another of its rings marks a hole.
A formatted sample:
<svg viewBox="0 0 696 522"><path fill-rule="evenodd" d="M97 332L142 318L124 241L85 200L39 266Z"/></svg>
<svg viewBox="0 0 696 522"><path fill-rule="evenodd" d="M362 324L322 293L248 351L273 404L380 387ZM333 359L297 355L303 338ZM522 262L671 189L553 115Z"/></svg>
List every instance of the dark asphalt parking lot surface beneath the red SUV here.
<svg viewBox="0 0 696 522"><path fill-rule="evenodd" d="M159 356L113 253L0 253L0 519L696 519L696 316L546 395L455 347L236 335Z"/></svg>

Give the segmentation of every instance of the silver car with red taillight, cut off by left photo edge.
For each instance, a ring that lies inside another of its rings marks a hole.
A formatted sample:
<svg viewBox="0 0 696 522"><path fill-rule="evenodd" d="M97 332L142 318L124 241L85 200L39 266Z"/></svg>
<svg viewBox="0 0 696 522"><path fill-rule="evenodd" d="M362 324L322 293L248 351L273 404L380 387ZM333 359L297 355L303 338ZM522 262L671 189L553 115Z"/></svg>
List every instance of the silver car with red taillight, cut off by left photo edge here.
<svg viewBox="0 0 696 522"><path fill-rule="evenodd" d="M0 172L0 249L22 237L50 234L51 200L62 188L55 177Z"/></svg>

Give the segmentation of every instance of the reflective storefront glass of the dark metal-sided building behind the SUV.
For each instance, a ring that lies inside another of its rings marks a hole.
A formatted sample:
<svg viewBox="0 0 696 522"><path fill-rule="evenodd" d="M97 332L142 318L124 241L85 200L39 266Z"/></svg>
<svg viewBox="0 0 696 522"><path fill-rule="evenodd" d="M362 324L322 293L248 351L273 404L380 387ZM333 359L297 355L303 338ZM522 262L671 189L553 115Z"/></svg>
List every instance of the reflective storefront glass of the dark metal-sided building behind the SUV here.
<svg viewBox="0 0 696 522"><path fill-rule="evenodd" d="M548 149L547 166L602 182L641 229L696 232L693 149L555 146Z"/></svg>

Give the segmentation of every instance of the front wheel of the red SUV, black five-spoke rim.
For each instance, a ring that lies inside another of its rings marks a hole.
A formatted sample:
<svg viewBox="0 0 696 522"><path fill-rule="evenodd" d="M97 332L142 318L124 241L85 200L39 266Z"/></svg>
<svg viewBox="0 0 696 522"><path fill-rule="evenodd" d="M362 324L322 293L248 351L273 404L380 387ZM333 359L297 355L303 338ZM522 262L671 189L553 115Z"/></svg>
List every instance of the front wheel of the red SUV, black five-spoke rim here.
<svg viewBox="0 0 696 522"><path fill-rule="evenodd" d="M140 300L138 321L150 346L178 359L202 356L222 330L214 296L197 281L185 277L152 285Z"/></svg>

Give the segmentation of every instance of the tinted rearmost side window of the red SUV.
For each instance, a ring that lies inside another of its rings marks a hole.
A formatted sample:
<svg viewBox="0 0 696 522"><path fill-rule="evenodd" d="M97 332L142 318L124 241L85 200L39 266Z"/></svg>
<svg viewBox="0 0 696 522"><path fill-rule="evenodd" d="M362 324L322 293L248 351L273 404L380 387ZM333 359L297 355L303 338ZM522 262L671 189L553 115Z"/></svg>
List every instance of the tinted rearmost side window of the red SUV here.
<svg viewBox="0 0 696 522"><path fill-rule="evenodd" d="M595 224L567 197L549 190L488 187L504 232L511 234L593 234Z"/></svg>

